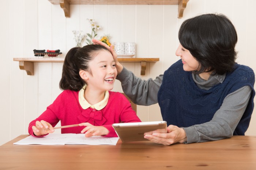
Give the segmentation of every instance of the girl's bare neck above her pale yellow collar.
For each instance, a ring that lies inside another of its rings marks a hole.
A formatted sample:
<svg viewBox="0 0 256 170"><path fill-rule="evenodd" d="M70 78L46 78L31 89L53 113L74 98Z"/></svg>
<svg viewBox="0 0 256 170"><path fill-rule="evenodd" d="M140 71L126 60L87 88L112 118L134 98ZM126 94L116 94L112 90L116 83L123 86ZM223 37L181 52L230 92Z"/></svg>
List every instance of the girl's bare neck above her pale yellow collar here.
<svg viewBox="0 0 256 170"><path fill-rule="evenodd" d="M94 105L105 98L105 91L90 90L90 88L86 87L84 90L84 98L88 103Z"/></svg>

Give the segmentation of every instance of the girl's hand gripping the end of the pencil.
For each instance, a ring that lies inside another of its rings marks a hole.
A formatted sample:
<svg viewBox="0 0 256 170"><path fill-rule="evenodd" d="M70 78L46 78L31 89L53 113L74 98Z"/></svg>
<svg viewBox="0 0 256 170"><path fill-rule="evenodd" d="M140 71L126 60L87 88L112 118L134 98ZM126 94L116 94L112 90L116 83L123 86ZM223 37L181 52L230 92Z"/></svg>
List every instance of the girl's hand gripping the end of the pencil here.
<svg viewBox="0 0 256 170"><path fill-rule="evenodd" d="M48 133L53 133L54 129L52 125L48 122L45 122L44 120L36 121L35 126L32 126L33 132L35 136L42 136Z"/></svg>

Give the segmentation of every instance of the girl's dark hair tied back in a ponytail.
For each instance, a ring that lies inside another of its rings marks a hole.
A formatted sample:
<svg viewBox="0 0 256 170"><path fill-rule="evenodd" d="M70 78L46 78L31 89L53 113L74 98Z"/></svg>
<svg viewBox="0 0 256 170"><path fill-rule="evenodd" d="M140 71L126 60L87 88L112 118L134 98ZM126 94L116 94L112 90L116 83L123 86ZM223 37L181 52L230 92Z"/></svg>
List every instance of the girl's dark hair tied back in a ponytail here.
<svg viewBox="0 0 256 170"><path fill-rule="evenodd" d="M96 44L71 48L64 60L60 89L79 91L86 84L79 71L90 71L89 62L102 50L109 52L104 46Z"/></svg>

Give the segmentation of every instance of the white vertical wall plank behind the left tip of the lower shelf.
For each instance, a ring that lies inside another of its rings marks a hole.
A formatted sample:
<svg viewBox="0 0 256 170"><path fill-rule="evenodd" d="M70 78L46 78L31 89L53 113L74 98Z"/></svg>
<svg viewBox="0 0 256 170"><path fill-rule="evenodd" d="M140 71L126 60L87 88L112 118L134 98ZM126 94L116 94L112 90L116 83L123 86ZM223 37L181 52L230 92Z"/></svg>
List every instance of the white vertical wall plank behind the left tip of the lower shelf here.
<svg viewBox="0 0 256 170"><path fill-rule="evenodd" d="M12 12L10 15L10 56L23 57L24 51L24 1L10 1ZM16 29L18 25L19 29ZM24 71L17 67L10 57L10 138L24 133ZM16 82L16 83L13 83ZM20 128L17 128L20 127Z"/></svg>

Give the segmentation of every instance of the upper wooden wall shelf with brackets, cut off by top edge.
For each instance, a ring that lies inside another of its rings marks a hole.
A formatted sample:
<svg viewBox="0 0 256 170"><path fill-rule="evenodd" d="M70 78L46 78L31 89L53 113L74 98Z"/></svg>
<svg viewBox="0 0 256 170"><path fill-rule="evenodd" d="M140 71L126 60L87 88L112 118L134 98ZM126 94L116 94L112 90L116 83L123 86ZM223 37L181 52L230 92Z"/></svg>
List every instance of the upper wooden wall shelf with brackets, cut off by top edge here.
<svg viewBox="0 0 256 170"><path fill-rule="evenodd" d="M70 17L69 4L85 5L178 5L178 18L182 18L183 11L189 0L48 0L50 3L60 7L65 17Z"/></svg>

